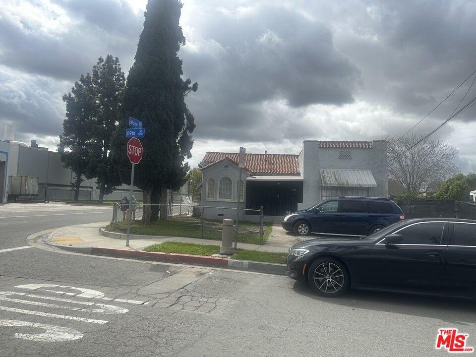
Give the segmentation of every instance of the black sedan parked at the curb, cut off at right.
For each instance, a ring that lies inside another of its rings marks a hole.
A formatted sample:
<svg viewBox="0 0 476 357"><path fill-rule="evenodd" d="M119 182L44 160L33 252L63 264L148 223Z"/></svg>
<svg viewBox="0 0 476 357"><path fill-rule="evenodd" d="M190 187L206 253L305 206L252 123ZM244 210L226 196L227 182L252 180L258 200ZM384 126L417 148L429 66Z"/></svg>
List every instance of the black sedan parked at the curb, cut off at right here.
<svg viewBox="0 0 476 357"><path fill-rule="evenodd" d="M476 297L476 221L412 219L364 238L317 238L293 245L288 276L322 296L349 288Z"/></svg>

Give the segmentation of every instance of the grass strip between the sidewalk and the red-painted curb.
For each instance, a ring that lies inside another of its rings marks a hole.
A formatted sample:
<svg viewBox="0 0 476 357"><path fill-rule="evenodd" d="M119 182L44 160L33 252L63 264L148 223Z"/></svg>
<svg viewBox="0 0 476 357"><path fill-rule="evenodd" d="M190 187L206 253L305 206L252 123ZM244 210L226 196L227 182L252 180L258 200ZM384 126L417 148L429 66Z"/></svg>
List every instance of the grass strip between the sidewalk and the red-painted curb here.
<svg viewBox="0 0 476 357"><path fill-rule="evenodd" d="M179 253L206 256L211 256L213 254L220 253L220 247L218 245L204 245L179 242L164 242L160 244L154 244L144 248L144 250L150 252ZM286 264L287 255L287 253L235 249L235 254L232 255L231 258L237 260L250 260L266 263Z"/></svg>

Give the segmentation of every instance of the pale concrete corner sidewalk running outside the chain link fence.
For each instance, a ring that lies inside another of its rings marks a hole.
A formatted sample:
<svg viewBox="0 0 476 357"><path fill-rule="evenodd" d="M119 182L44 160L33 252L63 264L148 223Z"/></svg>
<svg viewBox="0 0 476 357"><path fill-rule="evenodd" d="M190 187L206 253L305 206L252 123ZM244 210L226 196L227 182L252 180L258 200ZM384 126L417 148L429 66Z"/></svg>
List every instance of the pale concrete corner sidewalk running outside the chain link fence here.
<svg viewBox="0 0 476 357"><path fill-rule="evenodd" d="M182 243L195 243L195 244L211 244L220 245L221 240L211 239L198 239L198 238L184 238L184 237L154 237L154 236L142 236L140 238L137 235L131 235L129 240L129 247L125 246L126 235L118 233L105 233L101 234L101 228L105 227L109 222L90 223L76 226L63 227L53 233L50 236L51 243L57 246L65 247L104 247L104 248L122 248L132 250L142 250L146 246L163 243L165 241L176 241ZM106 235L110 235L107 237ZM268 240L265 244L246 244L238 243L238 248L260 250L269 252L283 252L287 253L289 247L294 244L294 239L288 241L286 239Z"/></svg>

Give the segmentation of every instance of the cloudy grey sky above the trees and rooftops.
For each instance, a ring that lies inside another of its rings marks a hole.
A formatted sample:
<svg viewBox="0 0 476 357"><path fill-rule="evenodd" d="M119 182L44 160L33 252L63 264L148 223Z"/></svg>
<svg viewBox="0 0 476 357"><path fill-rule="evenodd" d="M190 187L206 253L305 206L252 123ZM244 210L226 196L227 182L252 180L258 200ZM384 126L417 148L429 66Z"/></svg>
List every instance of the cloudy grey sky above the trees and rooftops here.
<svg viewBox="0 0 476 357"><path fill-rule="evenodd" d="M183 0L187 104L206 151L299 153L302 141L402 135L476 70L472 0ZM56 149L61 100L98 57L127 74L146 0L1 0L0 135ZM413 130L446 119L471 77ZM476 83L465 101L476 96ZM433 135L476 171L476 106Z"/></svg>

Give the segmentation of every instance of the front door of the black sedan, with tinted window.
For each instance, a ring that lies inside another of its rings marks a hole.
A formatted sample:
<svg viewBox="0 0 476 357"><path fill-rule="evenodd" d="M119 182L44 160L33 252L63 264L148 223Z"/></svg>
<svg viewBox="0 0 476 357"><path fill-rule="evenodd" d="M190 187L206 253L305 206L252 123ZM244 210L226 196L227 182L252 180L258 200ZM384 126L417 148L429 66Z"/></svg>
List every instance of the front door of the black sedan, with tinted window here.
<svg viewBox="0 0 476 357"><path fill-rule="evenodd" d="M441 286L447 248L448 222L418 222L395 232L403 239L370 248L369 278L390 288Z"/></svg>

